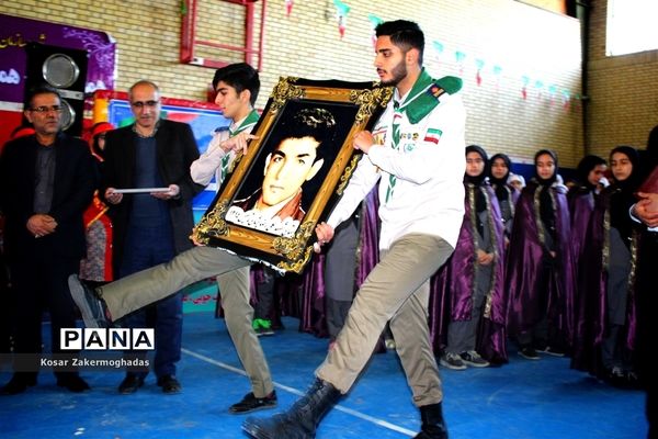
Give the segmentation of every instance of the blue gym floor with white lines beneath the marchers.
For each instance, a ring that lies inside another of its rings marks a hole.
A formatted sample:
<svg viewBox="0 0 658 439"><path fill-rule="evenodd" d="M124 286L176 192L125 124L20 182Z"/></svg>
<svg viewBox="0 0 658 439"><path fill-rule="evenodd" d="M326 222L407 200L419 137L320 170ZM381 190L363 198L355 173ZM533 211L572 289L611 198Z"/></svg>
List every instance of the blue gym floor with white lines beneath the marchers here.
<svg viewBox="0 0 658 439"><path fill-rule="evenodd" d="M261 339L279 394L277 409L288 407L310 384L328 342L298 333L295 318L285 317L283 323L284 330ZM181 394L163 395L151 374L136 394L120 395L116 386L123 372L93 371L82 373L91 392L72 394L57 387L54 375L44 372L37 386L0 396L0 437L247 438L240 429L246 416L227 413L230 404L249 392L249 383L224 320L209 312L185 314L183 348L178 372ZM642 392L614 389L570 370L566 358L529 361L515 352L510 358L501 368L441 368L451 439L646 437ZM0 383L10 376L9 365L0 365ZM409 438L419 424L399 362L388 351L373 356L366 372L324 419L317 436Z"/></svg>

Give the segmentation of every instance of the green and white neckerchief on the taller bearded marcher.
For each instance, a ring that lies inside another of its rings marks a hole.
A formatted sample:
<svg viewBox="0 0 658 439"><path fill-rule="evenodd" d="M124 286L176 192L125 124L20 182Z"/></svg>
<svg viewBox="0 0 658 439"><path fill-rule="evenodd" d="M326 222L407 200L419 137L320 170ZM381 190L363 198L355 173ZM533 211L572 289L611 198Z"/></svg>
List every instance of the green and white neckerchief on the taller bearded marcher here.
<svg viewBox="0 0 658 439"><path fill-rule="evenodd" d="M428 115L434 106L439 104L439 99L433 94L428 94L428 89L434 83L434 80L428 75L423 68L411 91L407 94L407 99L400 104L398 101L393 102L393 149L399 149L400 142L400 122L402 115L407 113L407 117L411 124L417 124L426 115ZM427 98L426 98L427 97ZM429 98L429 99L428 99ZM393 190L397 178L394 175L388 176L388 189L386 190L386 202L393 196Z"/></svg>

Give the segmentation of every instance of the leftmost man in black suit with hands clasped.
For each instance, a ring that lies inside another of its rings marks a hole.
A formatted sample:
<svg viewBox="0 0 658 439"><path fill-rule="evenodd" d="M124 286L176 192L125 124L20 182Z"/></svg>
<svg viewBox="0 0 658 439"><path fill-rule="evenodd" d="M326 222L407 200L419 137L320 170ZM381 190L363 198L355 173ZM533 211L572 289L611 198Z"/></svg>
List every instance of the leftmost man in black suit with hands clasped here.
<svg viewBox="0 0 658 439"><path fill-rule="evenodd" d="M14 357L14 374L2 394L36 384L44 308L50 314L54 353L61 353L59 329L76 326L67 279L86 254L82 213L93 195L95 168L87 144L60 132L61 109L57 90L31 90L24 114L35 134L9 142L0 157L0 210L15 294L14 352L29 354ZM55 374L57 384L71 392L89 389L75 370Z"/></svg>

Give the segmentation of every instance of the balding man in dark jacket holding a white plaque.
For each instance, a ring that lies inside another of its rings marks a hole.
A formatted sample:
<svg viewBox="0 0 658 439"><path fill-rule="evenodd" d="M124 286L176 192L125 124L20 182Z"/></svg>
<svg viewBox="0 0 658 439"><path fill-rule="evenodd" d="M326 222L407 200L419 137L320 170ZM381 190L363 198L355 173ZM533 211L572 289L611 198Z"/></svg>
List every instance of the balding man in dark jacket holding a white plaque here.
<svg viewBox="0 0 658 439"><path fill-rule="evenodd" d="M101 192L114 225L113 262L121 278L168 262L192 247L192 199L203 185L190 177L198 149L188 124L160 119L160 91L150 81L131 87L135 123L105 136ZM163 191L121 193L121 189ZM164 393L178 393L175 362L181 356L182 295L174 294L131 316L131 327L156 328L155 372ZM147 371L128 371L118 386L131 394L144 384Z"/></svg>

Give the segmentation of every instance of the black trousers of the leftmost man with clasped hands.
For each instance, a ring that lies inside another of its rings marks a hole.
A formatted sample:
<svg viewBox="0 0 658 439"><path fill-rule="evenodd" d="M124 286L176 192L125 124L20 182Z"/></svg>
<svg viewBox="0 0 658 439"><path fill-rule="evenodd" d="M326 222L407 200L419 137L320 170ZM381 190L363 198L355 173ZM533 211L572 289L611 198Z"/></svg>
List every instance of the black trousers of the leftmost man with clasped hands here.
<svg viewBox="0 0 658 439"><path fill-rule="evenodd" d="M76 305L69 294L68 277L78 273L80 259L55 255L44 239L30 258L19 258L10 263L14 309L14 351L38 353L42 351L42 317L50 315L50 340L53 353L63 353L59 346L61 328L76 327ZM78 352L66 351L71 356ZM38 371L38 361L14 363L14 369L30 374ZM60 375L63 372L56 372Z"/></svg>

